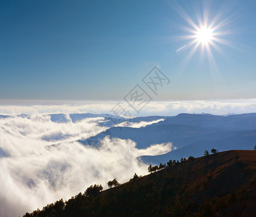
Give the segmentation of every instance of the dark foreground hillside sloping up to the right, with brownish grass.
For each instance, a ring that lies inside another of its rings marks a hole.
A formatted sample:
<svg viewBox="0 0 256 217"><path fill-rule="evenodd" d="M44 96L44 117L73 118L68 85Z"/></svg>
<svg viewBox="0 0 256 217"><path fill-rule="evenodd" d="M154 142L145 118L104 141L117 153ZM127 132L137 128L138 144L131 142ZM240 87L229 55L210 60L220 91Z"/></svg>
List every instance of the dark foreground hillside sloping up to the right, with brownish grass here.
<svg viewBox="0 0 256 217"><path fill-rule="evenodd" d="M82 194L25 216L255 216L256 151L175 163L96 196Z"/></svg>

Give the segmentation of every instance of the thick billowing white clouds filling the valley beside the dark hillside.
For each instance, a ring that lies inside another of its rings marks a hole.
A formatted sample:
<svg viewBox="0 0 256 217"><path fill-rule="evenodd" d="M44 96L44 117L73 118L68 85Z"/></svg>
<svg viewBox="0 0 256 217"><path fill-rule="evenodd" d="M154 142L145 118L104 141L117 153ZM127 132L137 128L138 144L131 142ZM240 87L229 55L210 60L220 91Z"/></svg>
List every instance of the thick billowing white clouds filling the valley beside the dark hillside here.
<svg viewBox="0 0 256 217"><path fill-rule="evenodd" d="M96 148L77 142L107 129L98 125L103 121L56 123L41 114L0 119L0 216L22 216L91 184L106 188L110 179L126 182L134 173L147 172L137 157L172 149L168 143L139 150L131 140L109 137Z"/></svg>

